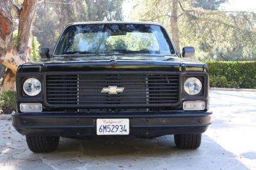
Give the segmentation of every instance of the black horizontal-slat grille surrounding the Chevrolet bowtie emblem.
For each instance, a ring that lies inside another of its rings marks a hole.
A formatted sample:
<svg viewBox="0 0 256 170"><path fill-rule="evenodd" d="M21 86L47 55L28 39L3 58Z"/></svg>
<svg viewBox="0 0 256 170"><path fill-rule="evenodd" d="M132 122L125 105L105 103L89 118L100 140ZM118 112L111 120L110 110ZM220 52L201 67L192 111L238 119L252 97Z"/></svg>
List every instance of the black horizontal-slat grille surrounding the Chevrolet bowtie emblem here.
<svg viewBox="0 0 256 170"><path fill-rule="evenodd" d="M103 87L123 87L122 93L102 93ZM157 104L178 102L179 76L173 74L77 74L47 75L47 102L55 107L72 105L107 105L110 108L125 104L150 108Z"/></svg>

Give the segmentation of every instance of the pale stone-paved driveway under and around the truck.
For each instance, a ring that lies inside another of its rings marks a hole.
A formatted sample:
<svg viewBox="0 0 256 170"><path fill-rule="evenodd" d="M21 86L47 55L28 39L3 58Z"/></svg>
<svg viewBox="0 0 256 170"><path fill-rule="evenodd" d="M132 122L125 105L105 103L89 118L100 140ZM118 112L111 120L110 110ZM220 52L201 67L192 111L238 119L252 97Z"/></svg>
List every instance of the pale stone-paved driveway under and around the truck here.
<svg viewBox="0 0 256 170"><path fill-rule="evenodd" d="M156 139L61 138L57 151L34 154L10 121L0 120L0 169L256 169L256 92L211 91L214 123L198 150Z"/></svg>

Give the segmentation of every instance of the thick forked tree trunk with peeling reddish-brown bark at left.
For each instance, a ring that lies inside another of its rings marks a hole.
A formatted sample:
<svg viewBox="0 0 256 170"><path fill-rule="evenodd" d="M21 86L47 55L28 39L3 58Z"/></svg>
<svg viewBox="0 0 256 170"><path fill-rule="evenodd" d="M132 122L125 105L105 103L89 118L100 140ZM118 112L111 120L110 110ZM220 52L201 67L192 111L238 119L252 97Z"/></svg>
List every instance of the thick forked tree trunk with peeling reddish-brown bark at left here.
<svg viewBox="0 0 256 170"><path fill-rule="evenodd" d="M17 66L28 61L32 42L32 23L37 0L24 0L18 9L9 0L0 1L0 62L7 67L1 91L14 90ZM17 46L13 44L11 9L19 18Z"/></svg>

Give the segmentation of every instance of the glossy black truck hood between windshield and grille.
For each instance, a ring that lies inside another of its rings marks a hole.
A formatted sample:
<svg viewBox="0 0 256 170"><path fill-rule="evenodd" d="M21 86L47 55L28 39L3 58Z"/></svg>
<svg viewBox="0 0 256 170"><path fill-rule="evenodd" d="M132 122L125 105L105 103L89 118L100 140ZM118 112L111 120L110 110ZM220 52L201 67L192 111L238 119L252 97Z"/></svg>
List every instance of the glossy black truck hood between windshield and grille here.
<svg viewBox="0 0 256 170"><path fill-rule="evenodd" d="M25 63L18 72L46 71L207 71L206 64L163 55L67 56Z"/></svg>

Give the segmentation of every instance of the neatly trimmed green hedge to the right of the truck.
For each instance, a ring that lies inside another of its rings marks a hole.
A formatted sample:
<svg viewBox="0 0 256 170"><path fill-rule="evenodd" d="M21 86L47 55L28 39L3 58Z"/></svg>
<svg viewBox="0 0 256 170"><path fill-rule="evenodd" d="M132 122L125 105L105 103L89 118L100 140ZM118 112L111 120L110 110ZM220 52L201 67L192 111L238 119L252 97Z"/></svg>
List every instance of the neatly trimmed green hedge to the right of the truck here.
<svg viewBox="0 0 256 170"><path fill-rule="evenodd" d="M210 87L256 88L256 61L208 61Z"/></svg>

